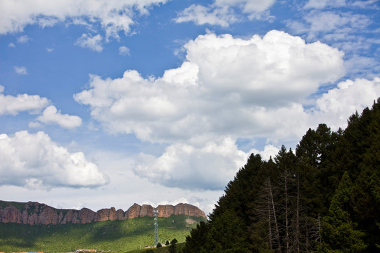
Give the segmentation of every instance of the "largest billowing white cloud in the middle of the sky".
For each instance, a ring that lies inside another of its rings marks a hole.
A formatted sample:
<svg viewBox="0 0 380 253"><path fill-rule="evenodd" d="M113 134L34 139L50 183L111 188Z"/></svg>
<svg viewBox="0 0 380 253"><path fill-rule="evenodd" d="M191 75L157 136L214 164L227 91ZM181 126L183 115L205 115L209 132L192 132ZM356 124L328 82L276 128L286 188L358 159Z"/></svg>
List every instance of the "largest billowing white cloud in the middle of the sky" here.
<svg viewBox="0 0 380 253"><path fill-rule="evenodd" d="M206 34L184 48L187 61L161 78L134 70L114 80L94 76L75 100L110 131L143 141L258 136L279 127L277 113L343 75L343 53L284 32L246 40Z"/></svg>

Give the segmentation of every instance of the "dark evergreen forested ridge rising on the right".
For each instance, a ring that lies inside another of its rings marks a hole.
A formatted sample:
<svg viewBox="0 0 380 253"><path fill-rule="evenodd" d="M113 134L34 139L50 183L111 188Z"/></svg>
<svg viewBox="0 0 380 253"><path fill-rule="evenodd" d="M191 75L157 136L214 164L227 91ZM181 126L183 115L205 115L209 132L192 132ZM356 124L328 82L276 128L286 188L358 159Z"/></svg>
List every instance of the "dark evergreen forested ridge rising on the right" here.
<svg viewBox="0 0 380 253"><path fill-rule="evenodd" d="M344 131L252 154L183 252L380 252L379 129L380 98Z"/></svg>

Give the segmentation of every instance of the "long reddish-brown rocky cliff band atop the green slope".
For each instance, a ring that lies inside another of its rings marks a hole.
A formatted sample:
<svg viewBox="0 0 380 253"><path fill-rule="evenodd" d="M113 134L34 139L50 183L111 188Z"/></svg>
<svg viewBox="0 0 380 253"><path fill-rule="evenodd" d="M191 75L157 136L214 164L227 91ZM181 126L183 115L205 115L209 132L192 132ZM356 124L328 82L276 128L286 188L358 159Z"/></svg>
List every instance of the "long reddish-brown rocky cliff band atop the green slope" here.
<svg viewBox="0 0 380 253"><path fill-rule="evenodd" d="M205 213L189 204L159 205L158 217L169 217L171 215L185 214L189 216L205 216ZM4 202L0 201L0 222L23 223L23 224L65 224L65 223L90 223L93 221L115 221L133 219L137 217L153 216L151 205L134 204L124 212L122 209L116 210L100 209L94 212L88 208L76 209L56 209L39 202Z"/></svg>

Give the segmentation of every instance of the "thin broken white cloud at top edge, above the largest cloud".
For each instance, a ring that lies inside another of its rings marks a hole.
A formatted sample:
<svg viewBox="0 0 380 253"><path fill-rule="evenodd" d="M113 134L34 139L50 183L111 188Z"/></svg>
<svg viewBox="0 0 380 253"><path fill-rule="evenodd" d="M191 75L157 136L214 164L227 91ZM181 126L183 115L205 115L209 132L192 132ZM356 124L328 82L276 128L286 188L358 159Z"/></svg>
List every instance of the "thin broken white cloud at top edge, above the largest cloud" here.
<svg viewBox="0 0 380 253"><path fill-rule="evenodd" d="M275 0L215 0L209 6L193 4L181 11L175 22L194 22L197 25L228 25L243 18L236 8L248 15L248 18L269 18L267 10Z"/></svg>

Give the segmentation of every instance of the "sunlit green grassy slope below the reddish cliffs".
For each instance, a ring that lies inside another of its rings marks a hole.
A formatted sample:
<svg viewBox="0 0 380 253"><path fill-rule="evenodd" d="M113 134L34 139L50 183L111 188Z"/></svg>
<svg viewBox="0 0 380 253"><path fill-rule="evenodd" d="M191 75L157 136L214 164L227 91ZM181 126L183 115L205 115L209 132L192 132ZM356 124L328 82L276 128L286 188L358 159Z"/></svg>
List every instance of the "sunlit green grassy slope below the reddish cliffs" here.
<svg viewBox="0 0 380 253"><path fill-rule="evenodd" d="M184 242L196 223L189 216L158 218L158 237L163 243L176 238ZM191 217L195 221L201 217ZM23 225L0 223L0 252L69 252L77 248L96 248L126 252L154 242L154 221L140 217L125 221L101 221L88 224Z"/></svg>

